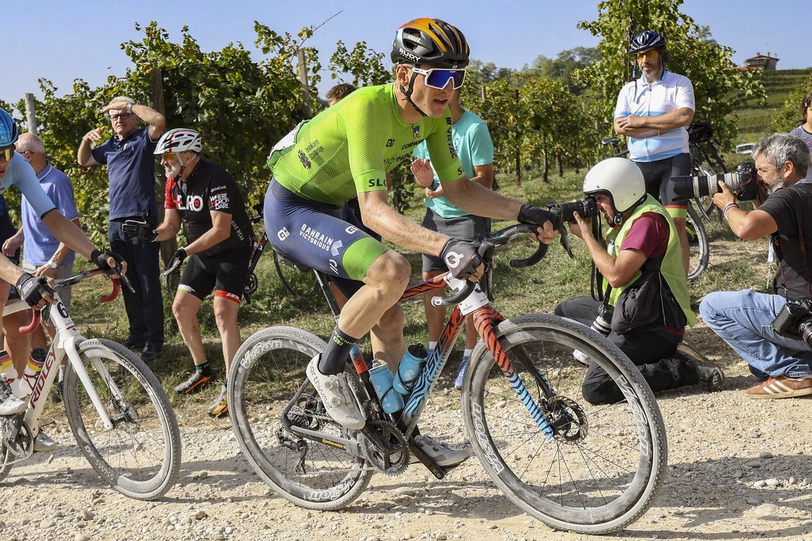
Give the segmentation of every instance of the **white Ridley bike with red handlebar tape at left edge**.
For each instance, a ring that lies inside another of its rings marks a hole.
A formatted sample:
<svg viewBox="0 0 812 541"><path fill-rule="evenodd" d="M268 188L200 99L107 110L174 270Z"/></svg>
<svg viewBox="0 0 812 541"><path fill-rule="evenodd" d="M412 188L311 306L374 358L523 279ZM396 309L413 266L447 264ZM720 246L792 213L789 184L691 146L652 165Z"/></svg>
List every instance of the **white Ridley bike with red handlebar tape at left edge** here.
<svg viewBox="0 0 812 541"><path fill-rule="evenodd" d="M72 286L105 273L93 269L57 280ZM110 302L119 294L102 296ZM180 431L169 398L149 367L132 351L104 338L83 337L55 294L56 304L34 311L31 332L41 318L56 335L28 399L28 410L0 417L0 481L11 467L31 457L33 440L58 367L67 358L63 401L67 423L93 470L115 490L136 500L155 500L175 485L180 469Z"/></svg>

